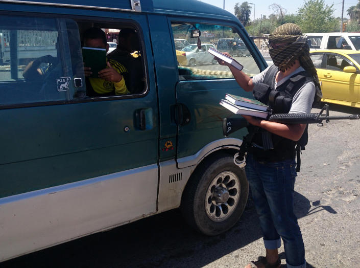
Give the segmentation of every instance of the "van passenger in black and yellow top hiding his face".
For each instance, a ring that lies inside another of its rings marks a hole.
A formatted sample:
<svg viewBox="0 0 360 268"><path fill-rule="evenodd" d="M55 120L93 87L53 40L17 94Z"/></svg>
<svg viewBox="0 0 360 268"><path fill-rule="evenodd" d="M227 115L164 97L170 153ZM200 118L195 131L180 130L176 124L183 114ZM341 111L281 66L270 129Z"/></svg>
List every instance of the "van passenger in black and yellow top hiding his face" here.
<svg viewBox="0 0 360 268"><path fill-rule="evenodd" d="M89 28L84 32L85 47L109 50L106 34L100 28ZM125 83L124 75L127 68L114 59L108 59L107 68L99 72L99 77L90 77L91 68L84 66L86 95L89 97L113 96L130 94Z"/></svg>

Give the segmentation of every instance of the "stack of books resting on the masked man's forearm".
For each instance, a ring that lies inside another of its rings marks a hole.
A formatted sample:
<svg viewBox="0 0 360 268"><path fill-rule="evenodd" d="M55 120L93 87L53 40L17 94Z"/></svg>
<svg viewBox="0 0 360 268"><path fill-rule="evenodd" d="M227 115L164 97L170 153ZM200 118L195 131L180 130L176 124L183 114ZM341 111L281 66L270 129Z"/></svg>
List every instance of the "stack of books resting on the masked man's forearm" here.
<svg viewBox="0 0 360 268"><path fill-rule="evenodd" d="M220 105L224 106L236 115L254 116L267 119L272 114L272 110L269 106L263 104L262 102L230 94L225 95L225 99L220 101Z"/></svg>

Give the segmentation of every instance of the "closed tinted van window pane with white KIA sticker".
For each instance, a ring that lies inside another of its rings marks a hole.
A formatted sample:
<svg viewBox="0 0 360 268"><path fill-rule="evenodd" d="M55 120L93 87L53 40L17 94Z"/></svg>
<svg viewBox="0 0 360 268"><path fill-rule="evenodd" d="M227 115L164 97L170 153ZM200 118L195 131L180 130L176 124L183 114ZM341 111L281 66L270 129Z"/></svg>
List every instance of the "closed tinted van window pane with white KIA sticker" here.
<svg viewBox="0 0 360 268"><path fill-rule="evenodd" d="M76 70L71 61L81 63L74 49L80 44L78 35L68 19L2 16L0 105L73 99Z"/></svg>

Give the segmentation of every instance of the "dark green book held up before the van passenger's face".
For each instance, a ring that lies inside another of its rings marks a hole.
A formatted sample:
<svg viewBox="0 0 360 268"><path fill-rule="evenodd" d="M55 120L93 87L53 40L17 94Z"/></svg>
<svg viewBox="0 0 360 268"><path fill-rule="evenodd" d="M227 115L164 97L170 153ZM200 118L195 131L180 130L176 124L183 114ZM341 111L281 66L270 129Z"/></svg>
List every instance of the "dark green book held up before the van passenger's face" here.
<svg viewBox="0 0 360 268"><path fill-rule="evenodd" d="M106 49L83 47L82 51L84 66L91 68L90 77L98 77L98 73L107 66Z"/></svg>

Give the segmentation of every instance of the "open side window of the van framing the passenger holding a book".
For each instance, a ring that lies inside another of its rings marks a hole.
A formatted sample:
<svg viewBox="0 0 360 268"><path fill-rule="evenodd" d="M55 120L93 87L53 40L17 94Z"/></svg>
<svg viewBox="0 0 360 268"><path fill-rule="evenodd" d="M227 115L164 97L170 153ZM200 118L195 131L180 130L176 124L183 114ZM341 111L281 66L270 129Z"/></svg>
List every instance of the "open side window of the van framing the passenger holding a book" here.
<svg viewBox="0 0 360 268"><path fill-rule="evenodd" d="M86 22L79 23L79 27L85 66L85 98L130 96L146 91L144 57L137 29L130 25ZM99 48L103 49L101 63L93 61L91 56L98 55ZM107 75L110 69L113 69L113 77Z"/></svg>

